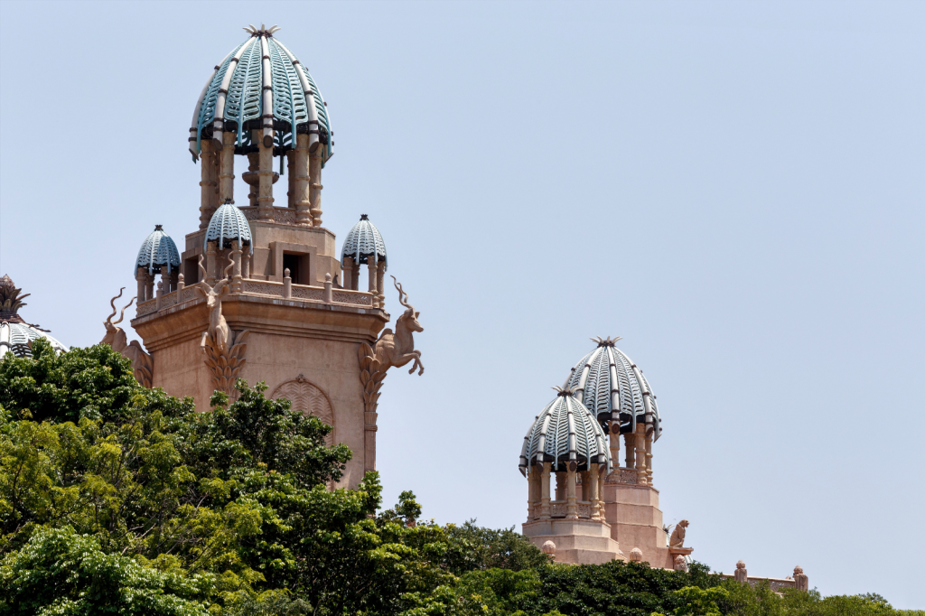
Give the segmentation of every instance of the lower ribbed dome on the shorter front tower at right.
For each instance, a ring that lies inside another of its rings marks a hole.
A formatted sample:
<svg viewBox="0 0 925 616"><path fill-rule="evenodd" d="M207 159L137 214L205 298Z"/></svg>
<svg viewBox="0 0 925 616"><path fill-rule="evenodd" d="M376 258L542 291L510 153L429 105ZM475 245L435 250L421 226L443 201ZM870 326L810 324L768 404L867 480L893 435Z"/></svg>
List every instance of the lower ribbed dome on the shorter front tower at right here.
<svg viewBox="0 0 925 616"><path fill-rule="evenodd" d="M588 462L606 463L607 472L611 472L611 452L604 431L571 389L559 391L556 399L536 416L524 437L521 473L539 462L552 462L555 471L566 470L568 462L577 463L580 471L587 469Z"/></svg>

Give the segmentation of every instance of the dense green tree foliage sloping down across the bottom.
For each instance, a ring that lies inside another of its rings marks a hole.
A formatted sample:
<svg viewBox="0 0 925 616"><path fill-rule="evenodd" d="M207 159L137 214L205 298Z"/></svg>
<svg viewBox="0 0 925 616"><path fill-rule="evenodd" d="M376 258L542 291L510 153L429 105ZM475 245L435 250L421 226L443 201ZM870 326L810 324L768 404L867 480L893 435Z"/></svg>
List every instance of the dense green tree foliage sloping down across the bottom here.
<svg viewBox="0 0 925 616"><path fill-rule="evenodd" d="M898 613L697 563L551 564L512 528L421 520L411 492L379 511L377 474L329 489L350 450L263 391L197 413L106 346L0 359L0 615Z"/></svg>

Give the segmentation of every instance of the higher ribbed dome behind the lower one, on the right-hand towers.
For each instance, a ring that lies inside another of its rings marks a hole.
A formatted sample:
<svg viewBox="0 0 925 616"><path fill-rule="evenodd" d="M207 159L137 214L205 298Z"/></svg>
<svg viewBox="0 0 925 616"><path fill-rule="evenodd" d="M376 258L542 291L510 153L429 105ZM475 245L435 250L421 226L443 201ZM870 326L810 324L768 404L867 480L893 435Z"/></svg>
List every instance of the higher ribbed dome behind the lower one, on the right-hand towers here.
<svg viewBox="0 0 925 616"><path fill-rule="evenodd" d="M629 433L635 432L637 422L645 422L653 426L658 440L661 420L655 394L642 371L614 346L619 339L594 339L598 348L575 363L562 387L574 389L575 398L605 427L619 420L621 433Z"/></svg>

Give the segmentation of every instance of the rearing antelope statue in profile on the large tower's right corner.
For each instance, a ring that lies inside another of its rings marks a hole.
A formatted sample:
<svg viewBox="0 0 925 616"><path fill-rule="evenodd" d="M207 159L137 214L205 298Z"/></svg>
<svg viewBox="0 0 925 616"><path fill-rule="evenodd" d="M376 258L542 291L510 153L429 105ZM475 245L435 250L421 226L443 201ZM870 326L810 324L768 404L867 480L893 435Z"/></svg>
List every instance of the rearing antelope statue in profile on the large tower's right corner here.
<svg viewBox="0 0 925 616"><path fill-rule="evenodd" d="M395 323L395 332L388 327L383 329L372 347L365 342L360 343L360 380L364 387L366 413L376 412L379 388L382 387L388 368L400 367L413 361L408 374L412 374L415 368L420 368L417 373L419 376L424 374L421 351L414 351L413 338L414 332L424 331L424 327L417 321L420 313L414 312L414 307L407 302L408 294L401 289L399 281L394 276L392 280L395 280L395 288L399 291L399 302L405 307L404 314Z"/></svg>

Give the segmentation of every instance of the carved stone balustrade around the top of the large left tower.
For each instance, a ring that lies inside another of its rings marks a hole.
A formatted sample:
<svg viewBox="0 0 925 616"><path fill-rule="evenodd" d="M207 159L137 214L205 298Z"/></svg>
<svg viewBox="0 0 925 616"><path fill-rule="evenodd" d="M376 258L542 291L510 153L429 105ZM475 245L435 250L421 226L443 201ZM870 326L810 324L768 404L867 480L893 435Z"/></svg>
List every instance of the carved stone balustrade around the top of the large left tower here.
<svg viewBox="0 0 925 616"><path fill-rule="evenodd" d="M242 281L241 288L241 295L259 295L292 302L338 304L360 308L373 307L373 294L367 291L349 289L331 290L331 300L330 302L325 302L324 287L290 285L290 297L286 297L286 285L281 282L247 279ZM233 298L234 295L238 294L239 293L233 293L231 297ZM172 308L183 302L199 299L200 297L201 296L192 286L186 287L181 290L165 293L160 298L139 303L137 315L145 316L147 314L153 314L160 310L165 310L166 308Z"/></svg>

